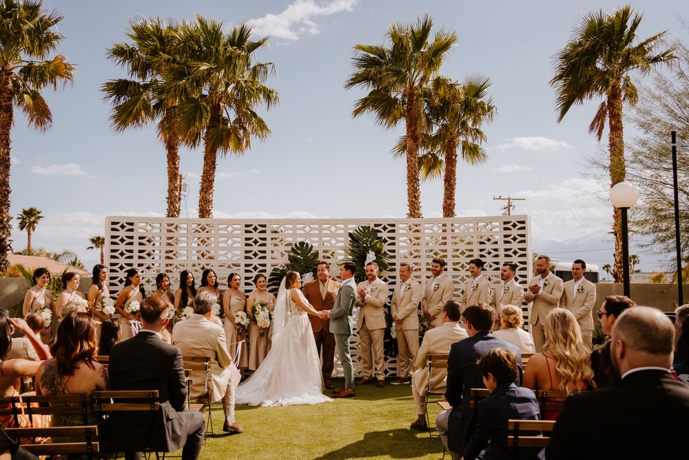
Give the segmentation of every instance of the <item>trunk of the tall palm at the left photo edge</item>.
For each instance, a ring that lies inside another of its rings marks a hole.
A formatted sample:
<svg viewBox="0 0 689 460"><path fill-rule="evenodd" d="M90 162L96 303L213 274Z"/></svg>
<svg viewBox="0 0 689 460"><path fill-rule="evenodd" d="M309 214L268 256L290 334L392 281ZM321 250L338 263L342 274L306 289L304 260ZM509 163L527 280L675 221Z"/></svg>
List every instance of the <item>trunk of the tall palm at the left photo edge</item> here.
<svg viewBox="0 0 689 460"><path fill-rule="evenodd" d="M0 270L7 265L10 252L10 130L12 130L12 81L3 71L0 81Z"/></svg>

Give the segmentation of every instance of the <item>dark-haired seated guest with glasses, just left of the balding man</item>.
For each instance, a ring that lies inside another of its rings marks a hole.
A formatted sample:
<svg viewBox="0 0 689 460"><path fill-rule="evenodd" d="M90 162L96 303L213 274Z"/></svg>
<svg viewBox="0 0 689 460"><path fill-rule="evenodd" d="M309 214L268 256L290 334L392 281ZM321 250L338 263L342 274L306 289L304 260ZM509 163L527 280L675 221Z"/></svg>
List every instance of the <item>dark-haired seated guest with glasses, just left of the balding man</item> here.
<svg viewBox="0 0 689 460"><path fill-rule="evenodd" d="M610 337L613 325L624 310L633 307L635 304L625 295L609 295L598 310L598 318L601 321L601 330L606 337ZM610 340L606 340L604 346L591 353L591 368L593 369L593 381L596 387L607 385L619 381L619 374L610 359Z"/></svg>

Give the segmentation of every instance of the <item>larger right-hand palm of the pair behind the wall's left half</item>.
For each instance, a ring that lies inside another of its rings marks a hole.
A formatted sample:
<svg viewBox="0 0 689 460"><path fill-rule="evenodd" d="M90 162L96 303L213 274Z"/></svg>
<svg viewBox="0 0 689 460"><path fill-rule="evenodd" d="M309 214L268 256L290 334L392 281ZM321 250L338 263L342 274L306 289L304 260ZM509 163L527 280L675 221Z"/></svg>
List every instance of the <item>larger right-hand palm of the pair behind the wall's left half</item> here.
<svg viewBox="0 0 689 460"><path fill-rule="evenodd" d="M174 123L189 146L203 141L203 172L198 196L198 217L213 212L213 190L218 154L243 154L251 138L271 134L256 112L278 103L278 92L265 81L274 72L272 63L254 63L255 53L268 37L251 39L251 26L240 24L229 33L223 23L196 15L195 24L181 27L181 40L189 60L183 68L167 73L167 85L181 102ZM186 97L185 97L186 96ZM183 99L183 100L182 100Z"/></svg>

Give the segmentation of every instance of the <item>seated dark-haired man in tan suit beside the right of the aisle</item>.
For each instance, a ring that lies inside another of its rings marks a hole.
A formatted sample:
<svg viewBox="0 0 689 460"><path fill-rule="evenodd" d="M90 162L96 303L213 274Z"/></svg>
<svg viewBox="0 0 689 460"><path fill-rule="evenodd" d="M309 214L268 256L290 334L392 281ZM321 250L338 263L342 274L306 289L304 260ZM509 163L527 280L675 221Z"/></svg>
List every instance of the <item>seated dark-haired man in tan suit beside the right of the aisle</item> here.
<svg viewBox="0 0 689 460"><path fill-rule="evenodd" d="M429 354L449 353L453 343L462 341L469 337L466 330L460 326L460 304L455 301L447 301L442 306L440 312L442 326L428 330L424 335L424 341L416 354L417 370L411 375L411 395L414 397L416 405L417 419L411 423L409 428L415 430L428 430L426 424L426 408L424 406L424 394L429 386L429 367L426 366L426 359ZM431 390L433 392L445 391L445 377L447 368L433 368L431 372Z"/></svg>

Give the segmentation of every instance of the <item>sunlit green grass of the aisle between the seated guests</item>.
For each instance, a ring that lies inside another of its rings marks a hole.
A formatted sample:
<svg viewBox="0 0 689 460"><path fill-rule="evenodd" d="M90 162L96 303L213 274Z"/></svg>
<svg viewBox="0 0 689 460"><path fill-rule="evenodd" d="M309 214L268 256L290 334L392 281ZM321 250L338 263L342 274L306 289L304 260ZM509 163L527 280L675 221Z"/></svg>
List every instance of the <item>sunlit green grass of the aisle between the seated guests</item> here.
<svg viewBox="0 0 689 460"><path fill-rule="evenodd" d="M333 381L336 388L342 380ZM327 390L326 394L330 394ZM440 407L429 403L431 423ZM201 459L440 459L442 443L410 430L416 419L409 385L356 387L356 397L315 406L236 406L243 434L225 434L223 408L213 406L215 434Z"/></svg>

